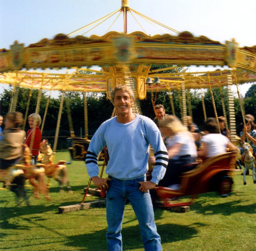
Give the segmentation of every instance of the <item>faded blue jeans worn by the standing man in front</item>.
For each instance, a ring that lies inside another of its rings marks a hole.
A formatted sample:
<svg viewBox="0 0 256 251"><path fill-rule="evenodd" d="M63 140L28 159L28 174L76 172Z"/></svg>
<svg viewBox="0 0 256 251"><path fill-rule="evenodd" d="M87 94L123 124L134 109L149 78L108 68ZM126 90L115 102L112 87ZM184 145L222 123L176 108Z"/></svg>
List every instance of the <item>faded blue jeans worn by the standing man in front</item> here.
<svg viewBox="0 0 256 251"><path fill-rule="evenodd" d="M121 229L127 197L137 216L145 251L162 251L161 239L156 231L150 193L143 193L139 190L139 181L145 181L145 178L132 180L120 180L111 176L110 178L109 189L106 193L108 250L122 251Z"/></svg>

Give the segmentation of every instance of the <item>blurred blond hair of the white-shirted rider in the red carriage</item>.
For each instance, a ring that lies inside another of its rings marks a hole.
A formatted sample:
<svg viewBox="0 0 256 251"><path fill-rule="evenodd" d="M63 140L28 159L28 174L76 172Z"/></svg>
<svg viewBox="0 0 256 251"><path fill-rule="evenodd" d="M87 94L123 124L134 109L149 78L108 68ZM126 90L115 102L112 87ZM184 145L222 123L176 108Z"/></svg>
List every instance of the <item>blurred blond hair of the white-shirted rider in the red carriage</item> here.
<svg viewBox="0 0 256 251"><path fill-rule="evenodd" d="M170 129L174 134L187 132L188 128L185 127L179 118L174 115L166 116L164 119L159 121L159 127L166 127Z"/></svg>

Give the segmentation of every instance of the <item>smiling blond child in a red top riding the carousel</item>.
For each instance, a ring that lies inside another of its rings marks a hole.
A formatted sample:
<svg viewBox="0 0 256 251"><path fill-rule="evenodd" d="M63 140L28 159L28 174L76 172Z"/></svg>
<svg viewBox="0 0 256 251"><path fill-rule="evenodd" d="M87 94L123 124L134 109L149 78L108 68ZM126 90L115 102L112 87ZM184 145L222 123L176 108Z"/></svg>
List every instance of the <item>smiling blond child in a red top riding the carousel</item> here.
<svg viewBox="0 0 256 251"><path fill-rule="evenodd" d="M31 129L29 129L26 134L26 140L24 144L26 144L30 149L32 148L31 152L32 152L32 156L34 157L34 164L36 164L36 159L39 154L40 142L42 139L41 131L39 128L39 125L41 124L41 117L39 114L32 113L29 115L28 120L29 120L29 127ZM33 146L31 147L30 142L31 142L33 133L35 134L34 134Z"/></svg>

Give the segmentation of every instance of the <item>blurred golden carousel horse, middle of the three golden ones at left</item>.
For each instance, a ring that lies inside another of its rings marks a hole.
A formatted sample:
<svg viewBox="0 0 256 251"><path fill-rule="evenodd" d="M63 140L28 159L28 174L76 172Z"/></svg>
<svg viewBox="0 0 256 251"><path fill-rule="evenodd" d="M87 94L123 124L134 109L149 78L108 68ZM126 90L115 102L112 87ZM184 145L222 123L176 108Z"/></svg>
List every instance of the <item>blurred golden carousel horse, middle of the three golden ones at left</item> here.
<svg viewBox="0 0 256 251"><path fill-rule="evenodd" d="M24 144L24 164L18 164L24 170L24 177L29 179L30 185L34 187L33 194L35 199L39 199L39 193L44 194L45 199L50 201L49 188L45 181L44 164L31 165L31 152L29 147ZM37 183L37 182L38 183Z"/></svg>

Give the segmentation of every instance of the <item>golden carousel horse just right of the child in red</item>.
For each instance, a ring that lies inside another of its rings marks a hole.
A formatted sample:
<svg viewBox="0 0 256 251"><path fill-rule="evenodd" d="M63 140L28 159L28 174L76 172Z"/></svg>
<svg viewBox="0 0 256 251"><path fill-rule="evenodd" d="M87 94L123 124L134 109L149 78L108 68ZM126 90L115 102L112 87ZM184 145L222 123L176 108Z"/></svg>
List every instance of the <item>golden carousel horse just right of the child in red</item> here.
<svg viewBox="0 0 256 251"><path fill-rule="evenodd" d="M46 139L44 139L40 143L40 154L39 159L37 159L38 162L41 162L44 164L45 174L48 178L53 178L57 182L59 182L59 190L60 192L63 191L63 185L65 184L67 186L68 192L72 192L71 187L69 186L69 180L68 180L68 170L66 166L65 160L60 160L56 164L54 164L54 155L52 148L50 147L50 144Z"/></svg>

